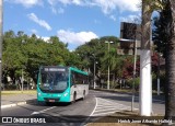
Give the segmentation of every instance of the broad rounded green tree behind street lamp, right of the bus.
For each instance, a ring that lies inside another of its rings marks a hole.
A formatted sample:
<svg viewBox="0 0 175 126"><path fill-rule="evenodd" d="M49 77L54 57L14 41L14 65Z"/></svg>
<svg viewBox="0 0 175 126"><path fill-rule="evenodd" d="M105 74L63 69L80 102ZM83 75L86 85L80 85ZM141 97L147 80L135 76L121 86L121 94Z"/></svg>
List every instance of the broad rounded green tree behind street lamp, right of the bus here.
<svg viewBox="0 0 175 126"><path fill-rule="evenodd" d="M105 42L114 42L109 45ZM118 57L116 53L118 38L115 36L105 36L102 38L92 39L82 46L79 46L75 50L82 60L82 68L90 69L94 72L94 62L97 62L96 72L107 73L107 65L110 66L110 71L117 72Z"/></svg>

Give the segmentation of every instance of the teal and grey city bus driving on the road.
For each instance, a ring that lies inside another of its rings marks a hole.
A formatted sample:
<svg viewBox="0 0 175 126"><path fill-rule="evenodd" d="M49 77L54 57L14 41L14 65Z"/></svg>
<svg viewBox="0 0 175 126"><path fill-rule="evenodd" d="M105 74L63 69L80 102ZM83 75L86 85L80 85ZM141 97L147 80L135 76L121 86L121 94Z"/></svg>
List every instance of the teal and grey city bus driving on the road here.
<svg viewBox="0 0 175 126"><path fill-rule="evenodd" d="M37 76L37 101L75 102L89 94L89 75L73 67L42 66Z"/></svg>

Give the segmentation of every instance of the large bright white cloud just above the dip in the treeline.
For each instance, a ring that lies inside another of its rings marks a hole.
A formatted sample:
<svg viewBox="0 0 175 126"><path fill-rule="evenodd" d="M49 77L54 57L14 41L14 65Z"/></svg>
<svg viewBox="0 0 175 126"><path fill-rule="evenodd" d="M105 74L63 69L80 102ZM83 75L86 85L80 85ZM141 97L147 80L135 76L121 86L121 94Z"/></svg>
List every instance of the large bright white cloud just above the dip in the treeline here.
<svg viewBox="0 0 175 126"><path fill-rule="evenodd" d="M60 30L57 32L57 35L60 41L69 44L74 45L82 45L85 42L90 42L92 38L97 38L98 36L93 32L71 32L71 31L65 31Z"/></svg>

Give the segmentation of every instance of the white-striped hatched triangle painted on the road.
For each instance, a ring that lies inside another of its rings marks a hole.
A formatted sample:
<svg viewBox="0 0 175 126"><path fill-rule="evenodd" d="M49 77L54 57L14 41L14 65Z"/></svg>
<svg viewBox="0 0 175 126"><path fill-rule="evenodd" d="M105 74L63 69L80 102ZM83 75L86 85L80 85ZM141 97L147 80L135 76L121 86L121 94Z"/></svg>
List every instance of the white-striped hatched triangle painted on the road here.
<svg viewBox="0 0 175 126"><path fill-rule="evenodd" d="M122 110L129 111L130 106L119 104L115 100L96 98L96 106L94 108L94 112L91 114L91 116L105 116Z"/></svg>

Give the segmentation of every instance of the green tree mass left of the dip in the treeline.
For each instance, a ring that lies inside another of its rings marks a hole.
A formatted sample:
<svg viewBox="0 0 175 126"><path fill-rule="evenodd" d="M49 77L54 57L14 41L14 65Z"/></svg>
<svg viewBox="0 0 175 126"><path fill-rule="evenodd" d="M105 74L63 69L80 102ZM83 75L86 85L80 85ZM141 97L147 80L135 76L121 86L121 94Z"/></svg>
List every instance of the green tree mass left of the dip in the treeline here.
<svg viewBox="0 0 175 126"><path fill-rule="evenodd" d="M72 56L67 45L57 36L51 36L48 42L45 42L37 38L35 34L27 36L23 32L15 34L9 31L3 35L3 77L10 76L13 83L22 76L22 69L24 76L36 81L39 66L71 65Z"/></svg>

